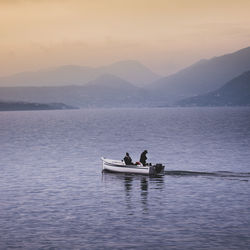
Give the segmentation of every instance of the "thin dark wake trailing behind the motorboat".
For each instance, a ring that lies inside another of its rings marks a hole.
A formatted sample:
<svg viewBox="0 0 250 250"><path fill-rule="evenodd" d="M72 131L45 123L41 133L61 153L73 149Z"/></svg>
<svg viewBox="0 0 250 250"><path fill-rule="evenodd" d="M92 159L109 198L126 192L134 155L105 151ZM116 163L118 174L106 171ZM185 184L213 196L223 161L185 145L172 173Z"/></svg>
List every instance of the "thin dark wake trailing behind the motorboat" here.
<svg viewBox="0 0 250 250"><path fill-rule="evenodd" d="M184 171L184 170L168 170L165 175L173 176L208 176L208 177L225 177L225 178L246 178L250 180L250 173L237 173L230 171L216 171L216 172L199 172L199 171Z"/></svg>

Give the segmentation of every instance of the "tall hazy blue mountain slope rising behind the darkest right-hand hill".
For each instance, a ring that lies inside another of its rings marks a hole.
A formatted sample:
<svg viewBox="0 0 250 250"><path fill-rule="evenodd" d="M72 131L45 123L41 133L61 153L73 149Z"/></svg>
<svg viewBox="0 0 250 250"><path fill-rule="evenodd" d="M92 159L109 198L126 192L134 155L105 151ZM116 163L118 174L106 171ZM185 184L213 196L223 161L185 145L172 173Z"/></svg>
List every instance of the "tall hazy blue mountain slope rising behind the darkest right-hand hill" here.
<svg viewBox="0 0 250 250"><path fill-rule="evenodd" d="M150 84L147 88L158 102L171 103L185 97L204 94L250 69L250 47L201 60L173 75Z"/></svg>

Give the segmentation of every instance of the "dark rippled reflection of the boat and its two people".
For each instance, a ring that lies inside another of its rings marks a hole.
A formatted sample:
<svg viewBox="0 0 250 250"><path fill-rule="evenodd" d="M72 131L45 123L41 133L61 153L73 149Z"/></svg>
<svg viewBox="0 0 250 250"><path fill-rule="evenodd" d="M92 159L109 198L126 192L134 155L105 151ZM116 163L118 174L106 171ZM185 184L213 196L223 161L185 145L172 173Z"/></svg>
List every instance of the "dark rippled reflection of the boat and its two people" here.
<svg viewBox="0 0 250 250"><path fill-rule="evenodd" d="M103 172L102 180L109 187L124 186L125 203L129 214L138 209L136 204L141 202L141 210L147 213L149 210L149 193L152 189L164 190L164 176L149 177L141 175ZM140 197L140 198L139 198Z"/></svg>

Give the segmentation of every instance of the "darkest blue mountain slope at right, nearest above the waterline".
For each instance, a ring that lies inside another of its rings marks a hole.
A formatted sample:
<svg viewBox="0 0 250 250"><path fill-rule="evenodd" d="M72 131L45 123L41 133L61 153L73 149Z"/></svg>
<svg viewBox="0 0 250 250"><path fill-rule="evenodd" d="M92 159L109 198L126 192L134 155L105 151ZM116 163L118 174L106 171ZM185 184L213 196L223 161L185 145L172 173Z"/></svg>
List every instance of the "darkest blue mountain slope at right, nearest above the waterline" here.
<svg viewBox="0 0 250 250"><path fill-rule="evenodd" d="M178 102L180 106L250 106L250 71L232 79L218 90Z"/></svg>

